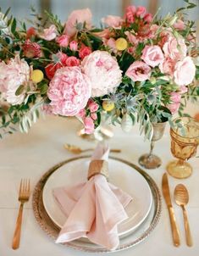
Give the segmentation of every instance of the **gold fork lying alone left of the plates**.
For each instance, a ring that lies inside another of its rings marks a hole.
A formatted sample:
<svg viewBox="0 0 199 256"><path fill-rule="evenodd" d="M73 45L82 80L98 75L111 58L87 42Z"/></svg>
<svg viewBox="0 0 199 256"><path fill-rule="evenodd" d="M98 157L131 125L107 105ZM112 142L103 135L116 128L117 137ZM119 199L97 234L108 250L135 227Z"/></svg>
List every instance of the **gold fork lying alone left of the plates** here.
<svg viewBox="0 0 199 256"><path fill-rule="evenodd" d="M20 231L21 231L21 224L22 224L22 215L24 209L24 203L28 202L30 198L30 180L21 180L19 186L19 214L17 217L16 227L14 231L14 238L13 238L13 249L16 250L19 248L20 243Z"/></svg>

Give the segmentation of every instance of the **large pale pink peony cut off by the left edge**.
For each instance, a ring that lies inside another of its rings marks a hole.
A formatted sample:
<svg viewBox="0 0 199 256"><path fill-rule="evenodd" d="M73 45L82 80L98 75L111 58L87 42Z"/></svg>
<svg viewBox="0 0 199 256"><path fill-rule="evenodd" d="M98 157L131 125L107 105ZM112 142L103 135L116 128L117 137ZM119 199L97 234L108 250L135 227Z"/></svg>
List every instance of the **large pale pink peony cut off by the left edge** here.
<svg viewBox="0 0 199 256"><path fill-rule="evenodd" d="M3 93L3 98L12 105L23 103L25 92L19 96L15 92L19 86L26 86L30 79L30 67L24 59L19 56L12 58L8 64L0 62L0 92Z"/></svg>

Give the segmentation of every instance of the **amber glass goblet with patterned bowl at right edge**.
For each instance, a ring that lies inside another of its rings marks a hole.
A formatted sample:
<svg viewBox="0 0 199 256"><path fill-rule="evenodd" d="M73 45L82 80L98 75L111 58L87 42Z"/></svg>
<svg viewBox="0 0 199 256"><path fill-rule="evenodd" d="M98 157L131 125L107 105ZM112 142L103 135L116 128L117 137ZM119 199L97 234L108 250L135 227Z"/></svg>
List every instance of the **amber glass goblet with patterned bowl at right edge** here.
<svg viewBox="0 0 199 256"><path fill-rule="evenodd" d="M199 122L189 117L181 117L174 120L180 122L179 127L170 129L171 153L178 160L174 160L167 165L169 175L184 179L191 175L191 164L185 160L196 155L196 148L199 142Z"/></svg>

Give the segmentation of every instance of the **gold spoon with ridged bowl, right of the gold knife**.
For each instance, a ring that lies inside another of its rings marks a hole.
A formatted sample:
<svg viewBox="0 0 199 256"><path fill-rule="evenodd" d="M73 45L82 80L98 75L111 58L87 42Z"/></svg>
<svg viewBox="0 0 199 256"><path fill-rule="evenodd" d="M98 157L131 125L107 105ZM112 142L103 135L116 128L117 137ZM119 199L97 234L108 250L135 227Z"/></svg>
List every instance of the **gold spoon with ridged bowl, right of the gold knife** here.
<svg viewBox="0 0 199 256"><path fill-rule="evenodd" d="M191 238L190 225L189 225L188 217L185 210L185 205L189 202L189 193L183 184L179 184L175 186L174 199L175 199L175 203L180 205L180 207L182 208L183 216L184 216L184 224L185 224L186 244L191 247L193 245L193 242Z"/></svg>

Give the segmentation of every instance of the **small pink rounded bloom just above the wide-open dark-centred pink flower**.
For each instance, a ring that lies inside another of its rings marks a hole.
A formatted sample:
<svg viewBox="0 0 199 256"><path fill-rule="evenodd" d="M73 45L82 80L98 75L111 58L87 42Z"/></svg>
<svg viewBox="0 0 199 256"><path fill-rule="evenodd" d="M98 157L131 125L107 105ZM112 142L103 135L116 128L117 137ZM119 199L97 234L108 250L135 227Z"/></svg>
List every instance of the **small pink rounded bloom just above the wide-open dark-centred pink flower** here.
<svg viewBox="0 0 199 256"><path fill-rule="evenodd" d="M144 62L153 68L155 66L158 66L158 64L163 63L163 52L160 47L157 45L155 46L147 46L144 47L141 55L141 59L144 60Z"/></svg>

